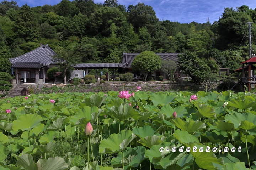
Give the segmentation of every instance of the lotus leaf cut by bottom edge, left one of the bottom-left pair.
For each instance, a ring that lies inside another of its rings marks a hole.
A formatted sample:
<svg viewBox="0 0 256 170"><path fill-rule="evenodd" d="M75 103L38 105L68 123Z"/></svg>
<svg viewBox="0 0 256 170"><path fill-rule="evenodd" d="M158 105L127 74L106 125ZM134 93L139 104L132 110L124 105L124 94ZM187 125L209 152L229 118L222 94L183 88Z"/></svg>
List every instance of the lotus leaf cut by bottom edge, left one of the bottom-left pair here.
<svg viewBox="0 0 256 170"><path fill-rule="evenodd" d="M38 170L37 164L34 163L33 157L26 153L18 157L17 163L18 166L22 166L26 170Z"/></svg>

